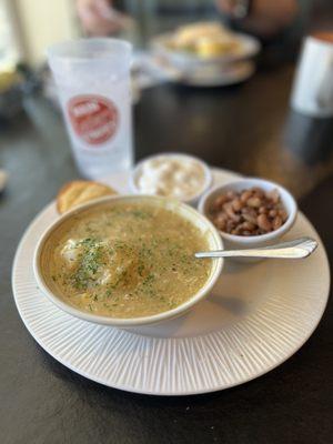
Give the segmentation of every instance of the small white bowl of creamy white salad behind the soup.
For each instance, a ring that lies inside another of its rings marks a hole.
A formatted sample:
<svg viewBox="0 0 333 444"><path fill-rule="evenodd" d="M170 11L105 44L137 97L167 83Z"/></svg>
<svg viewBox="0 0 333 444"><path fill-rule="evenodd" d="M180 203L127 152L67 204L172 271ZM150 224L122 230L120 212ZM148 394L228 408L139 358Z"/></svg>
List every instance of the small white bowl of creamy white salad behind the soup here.
<svg viewBox="0 0 333 444"><path fill-rule="evenodd" d="M202 160L181 153L143 159L130 176L134 194L154 194L194 205L212 184L212 173Z"/></svg>

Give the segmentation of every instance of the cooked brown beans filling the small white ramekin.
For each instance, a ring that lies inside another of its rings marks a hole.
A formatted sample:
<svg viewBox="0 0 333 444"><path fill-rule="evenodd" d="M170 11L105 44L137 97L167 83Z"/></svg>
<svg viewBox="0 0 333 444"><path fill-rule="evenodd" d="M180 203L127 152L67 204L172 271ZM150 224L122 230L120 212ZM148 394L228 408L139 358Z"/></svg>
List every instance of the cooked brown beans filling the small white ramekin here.
<svg viewBox="0 0 333 444"><path fill-rule="evenodd" d="M209 218L220 231L253 236L280 229L287 213L276 189L265 192L261 188L251 188L216 196L209 208Z"/></svg>

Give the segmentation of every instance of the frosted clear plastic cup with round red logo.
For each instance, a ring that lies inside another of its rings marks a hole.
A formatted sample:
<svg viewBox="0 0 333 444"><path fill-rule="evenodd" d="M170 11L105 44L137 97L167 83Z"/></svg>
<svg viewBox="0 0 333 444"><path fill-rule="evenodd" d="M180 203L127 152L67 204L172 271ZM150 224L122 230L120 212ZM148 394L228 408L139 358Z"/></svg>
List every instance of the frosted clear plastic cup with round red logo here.
<svg viewBox="0 0 333 444"><path fill-rule="evenodd" d="M131 54L130 43L108 38L48 49L74 159L89 179L132 167Z"/></svg>

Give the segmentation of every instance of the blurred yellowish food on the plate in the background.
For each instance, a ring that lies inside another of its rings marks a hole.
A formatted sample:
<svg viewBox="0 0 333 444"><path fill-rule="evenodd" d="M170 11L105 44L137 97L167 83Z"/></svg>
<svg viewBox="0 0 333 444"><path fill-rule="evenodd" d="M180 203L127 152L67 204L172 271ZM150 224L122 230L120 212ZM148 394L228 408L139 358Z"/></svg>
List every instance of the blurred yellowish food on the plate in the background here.
<svg viewBox="0 0 333 444"><path fill-rule="evenodd" d="M199 22L180 27L170 40L170 49L185 51L201 58L239 52L236 37L216 22Z"/></svg>

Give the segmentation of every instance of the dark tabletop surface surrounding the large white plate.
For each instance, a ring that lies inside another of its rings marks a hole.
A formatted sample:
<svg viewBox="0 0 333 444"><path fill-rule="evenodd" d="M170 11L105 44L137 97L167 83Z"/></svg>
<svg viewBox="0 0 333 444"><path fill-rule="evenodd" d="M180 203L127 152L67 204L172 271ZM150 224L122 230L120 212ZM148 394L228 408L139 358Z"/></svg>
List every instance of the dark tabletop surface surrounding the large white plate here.
<svg viewBox="0 0 333 444"><path fill-rule="evenodd" d="M134 112L135 154L184 151L286 184L332 261L332 125L289 112L292 75L293 67L284 67L228 89L145 91ZM26 114L1 130L0 165L10 172L0 198L2 444L333 441L332 301L312 337L287 362L213 394L125 393L85 380L49 356L23 326L10 283L24 229L63 182L78 176L61 118L48 102L28 100Z"/></svg>

